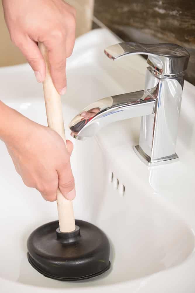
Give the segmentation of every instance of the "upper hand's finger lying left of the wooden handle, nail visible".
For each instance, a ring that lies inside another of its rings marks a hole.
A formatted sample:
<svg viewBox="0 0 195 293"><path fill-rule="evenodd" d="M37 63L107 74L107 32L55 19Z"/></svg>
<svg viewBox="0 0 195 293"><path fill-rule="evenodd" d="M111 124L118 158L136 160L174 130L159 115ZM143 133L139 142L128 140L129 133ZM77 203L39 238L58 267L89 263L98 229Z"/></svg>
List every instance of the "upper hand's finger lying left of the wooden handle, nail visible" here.
<svg viewBox="0 0 195 293"><path fill-rule="evenodd" d="M28 63L34 70L35 77L38 82L43 82L46 74L44 58L39 50L36 42L29 37L23 38L20 42L16 41L16 45L26 57Z"/></svg>

